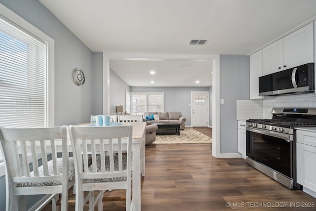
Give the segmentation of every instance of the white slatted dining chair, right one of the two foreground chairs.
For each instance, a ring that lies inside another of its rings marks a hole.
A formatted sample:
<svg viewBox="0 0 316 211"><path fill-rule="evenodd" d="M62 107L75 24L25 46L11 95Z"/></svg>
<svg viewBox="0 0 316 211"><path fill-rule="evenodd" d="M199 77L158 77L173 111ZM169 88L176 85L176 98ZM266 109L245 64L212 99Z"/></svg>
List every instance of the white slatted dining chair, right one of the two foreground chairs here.
<svg viewBox="0 0 316 211"><path fill-rule="evenodd" d="M104 191L115 189L126 189L126 211L131 211L132 126L70 126L69 134L75 157L76 211L82 211L88 200L89 211L97 203L103 211ZM89 192L85 198L84 191ZM98 191L95 198L92 191Z"/></svg>

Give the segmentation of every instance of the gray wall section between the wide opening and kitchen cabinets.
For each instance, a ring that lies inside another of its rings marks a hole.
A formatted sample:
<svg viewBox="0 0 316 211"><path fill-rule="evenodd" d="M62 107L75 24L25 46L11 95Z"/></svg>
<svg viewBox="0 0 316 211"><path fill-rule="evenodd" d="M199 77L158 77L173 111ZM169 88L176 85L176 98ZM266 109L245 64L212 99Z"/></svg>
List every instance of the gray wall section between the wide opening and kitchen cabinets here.
<svg viewBox="0 0 316 211"><path fill-rule="evenodd" d="M236 100L249 99L249 56L220 55L220 151L237 153Z"/></svg>

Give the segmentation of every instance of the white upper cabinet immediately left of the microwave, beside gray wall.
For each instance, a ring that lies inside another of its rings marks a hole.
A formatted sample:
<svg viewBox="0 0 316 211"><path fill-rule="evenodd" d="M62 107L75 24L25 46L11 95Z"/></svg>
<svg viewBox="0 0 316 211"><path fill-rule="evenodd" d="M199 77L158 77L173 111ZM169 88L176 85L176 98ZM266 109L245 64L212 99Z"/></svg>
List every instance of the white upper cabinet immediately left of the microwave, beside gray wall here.
<svg viewBox="0 0 316 211"><path fill-rule="evenodd" d="M262 99L259 96L259 77L262 76L262 50L249 56L250 99Z"/></svg>

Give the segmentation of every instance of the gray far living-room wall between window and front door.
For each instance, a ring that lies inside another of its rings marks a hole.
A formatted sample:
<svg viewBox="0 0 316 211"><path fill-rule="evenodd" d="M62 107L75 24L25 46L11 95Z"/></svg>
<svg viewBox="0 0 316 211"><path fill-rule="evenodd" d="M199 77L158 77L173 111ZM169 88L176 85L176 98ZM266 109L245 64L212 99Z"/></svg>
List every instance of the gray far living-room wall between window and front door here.
<svg viewBox="0 0 316 211"><path fill-rule="evenodd" d="M191 125L191 91L209 91L208 87L130 87L131 92L164 92L164 111L180 111Z"/></svg>

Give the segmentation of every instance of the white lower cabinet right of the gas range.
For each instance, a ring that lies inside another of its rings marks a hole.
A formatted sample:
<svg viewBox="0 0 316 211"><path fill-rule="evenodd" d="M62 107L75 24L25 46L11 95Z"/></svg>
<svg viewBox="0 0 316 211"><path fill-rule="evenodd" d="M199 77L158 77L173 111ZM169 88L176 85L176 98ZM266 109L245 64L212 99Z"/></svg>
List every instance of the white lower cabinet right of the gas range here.
<svg viewBox="0 0 316 211"><path fill-rule="evenodd" d="M297 183L316 197L316 130L298 129L296 136Z"/></svg>

